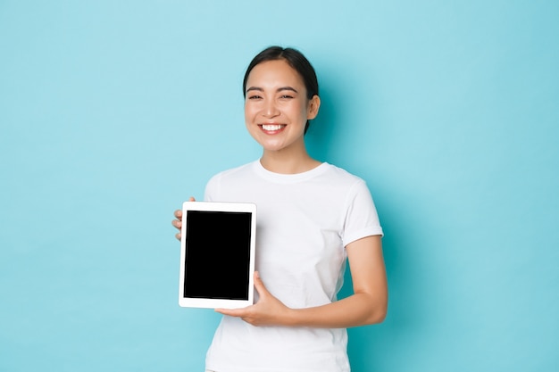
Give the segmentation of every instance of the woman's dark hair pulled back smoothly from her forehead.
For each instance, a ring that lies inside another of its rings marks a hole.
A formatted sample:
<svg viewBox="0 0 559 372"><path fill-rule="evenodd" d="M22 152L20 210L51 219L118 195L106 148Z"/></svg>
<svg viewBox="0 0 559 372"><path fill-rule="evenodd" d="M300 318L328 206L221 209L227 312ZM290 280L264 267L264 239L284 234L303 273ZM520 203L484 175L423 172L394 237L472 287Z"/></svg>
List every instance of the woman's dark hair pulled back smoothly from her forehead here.
<svg viewBox="0 0 559 372"><path fill-rule="evenodd" d="M245 79L243 79L243 96L246 97L246 80L248 75L254 67L262 62L283 60L288 62L288 65L296 70L306 88L307 99L312 99L314 95L318 95L318 79L316 79L316 72L313 65L306 59L305 55L294 48L283 48L281 46L269 46L253 58L248 64L245 72ZM305 133L309 128L309 120L306 120Z"/></svg>

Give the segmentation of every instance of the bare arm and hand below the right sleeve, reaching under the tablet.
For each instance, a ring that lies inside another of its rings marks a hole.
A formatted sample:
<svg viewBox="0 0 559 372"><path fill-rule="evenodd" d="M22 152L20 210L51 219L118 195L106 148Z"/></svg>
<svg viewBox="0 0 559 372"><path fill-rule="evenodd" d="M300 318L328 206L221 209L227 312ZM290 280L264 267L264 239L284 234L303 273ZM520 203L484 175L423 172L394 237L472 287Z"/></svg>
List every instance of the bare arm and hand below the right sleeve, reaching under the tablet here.
<svg viewBox="0 0 559 372"><path fill-rule="evenodd" d="M326 305L289 309L273 297L257 275L254 287L260 299L244 309L216 309L243 318L254 326L357 327L384 320L388 307L388 285L380 236L367 236L346 247L354 294Z"/></svg>

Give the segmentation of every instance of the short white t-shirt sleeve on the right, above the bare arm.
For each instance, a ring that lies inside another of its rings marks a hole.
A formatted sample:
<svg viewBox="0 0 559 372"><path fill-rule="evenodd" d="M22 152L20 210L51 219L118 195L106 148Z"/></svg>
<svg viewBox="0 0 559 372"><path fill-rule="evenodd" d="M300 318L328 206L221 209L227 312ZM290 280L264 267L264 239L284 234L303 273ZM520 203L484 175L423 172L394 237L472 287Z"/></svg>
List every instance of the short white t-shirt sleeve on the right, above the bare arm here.
<svg viewBox="0 0 559 372"><path fill-rule="evenodd" d="M347 195L342 242L346 246L366 236L383 235L371 192L363 179L359 179Z"/></svg>

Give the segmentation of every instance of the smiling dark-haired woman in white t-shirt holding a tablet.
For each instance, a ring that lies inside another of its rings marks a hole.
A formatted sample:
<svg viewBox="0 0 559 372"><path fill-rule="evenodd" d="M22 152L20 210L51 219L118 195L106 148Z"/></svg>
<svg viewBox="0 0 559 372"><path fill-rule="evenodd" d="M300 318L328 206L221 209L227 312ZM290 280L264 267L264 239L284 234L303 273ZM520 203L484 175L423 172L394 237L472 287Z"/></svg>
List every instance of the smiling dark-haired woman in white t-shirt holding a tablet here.
<svg viewBox="0 0 559 372"><path fill-rule="evenodd" d="M292 48L266 48L246 70L246 128L262 157L214 176L204 199L256 203L257 295L244 309L216 309L224 316L208 370L349 371L346 328L386 316L382 229L371 194L361 178L305 148L318 93L311 63ZM175 211L174 227L181 217ZM346 259L354 293L338 301Z"/></svg>

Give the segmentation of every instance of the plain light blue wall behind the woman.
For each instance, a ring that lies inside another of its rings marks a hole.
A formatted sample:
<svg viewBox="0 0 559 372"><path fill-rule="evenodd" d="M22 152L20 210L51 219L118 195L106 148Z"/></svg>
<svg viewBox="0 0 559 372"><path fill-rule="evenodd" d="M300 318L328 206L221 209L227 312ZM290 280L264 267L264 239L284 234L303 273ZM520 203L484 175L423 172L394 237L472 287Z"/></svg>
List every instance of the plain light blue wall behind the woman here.
<svg viewBox="0 0 559 372"><path fill-rule="evenodd" d="M202 371L172 211L253 161L263 47L321 81L309 149L364 178L389 313L355 372L559 370L559 3L0 0L0 371ZM208 273L217 275L217 273ZM344 289L347 293L347 289Z"/></svg>

